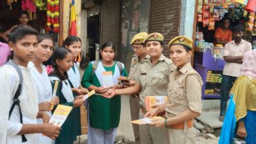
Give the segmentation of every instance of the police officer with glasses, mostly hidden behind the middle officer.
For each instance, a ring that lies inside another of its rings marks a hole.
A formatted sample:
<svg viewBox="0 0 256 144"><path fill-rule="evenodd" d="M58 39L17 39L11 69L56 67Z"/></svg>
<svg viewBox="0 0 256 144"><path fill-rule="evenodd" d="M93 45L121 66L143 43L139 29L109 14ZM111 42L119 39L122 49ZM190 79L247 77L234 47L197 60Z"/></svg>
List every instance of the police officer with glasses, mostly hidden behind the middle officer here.
<svg viewBox="0 0 256 144"><path fill-rule="evenodd" d="M138 33L131 39L131 45L135 52L135 55L133 55L133 58L131 60L131 69L129 73L129 77L132 80L136 80L138 73L139 73L139 67L140 63L146 62L148 58L148 54L146 54L146 48L143 43L144 38L148 35L148 33L142 32ZM137 120L139 119L139 111L140 111L140 98L139 93L132 94L130 97L130 111L131 111L131 120ZM135 143L140 144L140 134L139 134L139 125L133 124L133 133L135 136Z"/></svg>

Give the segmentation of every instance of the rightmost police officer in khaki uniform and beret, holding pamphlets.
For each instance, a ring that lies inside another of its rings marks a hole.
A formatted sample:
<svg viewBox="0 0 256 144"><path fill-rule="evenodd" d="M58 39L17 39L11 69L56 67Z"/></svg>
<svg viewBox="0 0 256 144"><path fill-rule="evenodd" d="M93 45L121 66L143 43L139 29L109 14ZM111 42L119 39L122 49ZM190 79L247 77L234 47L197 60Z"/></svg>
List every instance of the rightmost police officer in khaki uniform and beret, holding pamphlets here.
<svg viewBox="0 0 256 144"><path fill-rule="evenodd" d="M193 118L202 112L202 79L190 65L192 39L184 36L173 38L169 42L171 60L177 66L169 76L167 94L169 101L146 113L145 117L154 117L165 111L165 119L150 124L157 128L165 127L165 143L196 143L193 130Z"/></svg>

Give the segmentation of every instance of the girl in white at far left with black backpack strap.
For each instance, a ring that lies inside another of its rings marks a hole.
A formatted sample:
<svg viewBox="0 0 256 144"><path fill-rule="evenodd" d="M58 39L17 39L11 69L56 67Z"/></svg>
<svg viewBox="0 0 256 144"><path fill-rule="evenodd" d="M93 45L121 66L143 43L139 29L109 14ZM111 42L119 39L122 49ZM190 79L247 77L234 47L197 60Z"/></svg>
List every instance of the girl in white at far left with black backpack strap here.
<svg viewBox="0 0 256 144"><path fill-rule="evenodd" d="M39 143L37 133L55 139L60 133L60 128L53 124L37 124L36 118L49 120L49 115L38 111L37 92L28 68L37 50L37 31L28 26L18 26L9 34L9 47L12 50L12 62L16 63L22 71L22 92L18 99L22 113L23 123L20 122L18 106L14 107L9 118L9 110L13 103L12 98L18 88L19 76L11 65L0 67L0 143ZM26 139L22 139L24 135Z"/></svg>

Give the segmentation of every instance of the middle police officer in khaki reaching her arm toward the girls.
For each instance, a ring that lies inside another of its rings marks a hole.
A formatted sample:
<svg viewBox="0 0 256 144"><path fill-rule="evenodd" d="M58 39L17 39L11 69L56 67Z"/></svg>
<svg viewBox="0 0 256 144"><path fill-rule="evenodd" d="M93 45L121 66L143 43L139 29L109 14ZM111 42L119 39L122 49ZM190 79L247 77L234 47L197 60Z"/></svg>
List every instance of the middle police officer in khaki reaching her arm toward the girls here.
<svg viewBox="0 0 256 144"><path fill-rule="evenodd" d="M175 69L173 62L162 54L163 35L151 33L144 39L146 51L150 58L140 64L138 81L135 86L124 89L109 90L106 98L112 98L115 94L135 94L140 92L140 118L144 118L146 96L167 96L167 84L169 75ZM160 144L164 141L164 129L155 128L146 124L139 125L140 142L142 144Z"/></svg>

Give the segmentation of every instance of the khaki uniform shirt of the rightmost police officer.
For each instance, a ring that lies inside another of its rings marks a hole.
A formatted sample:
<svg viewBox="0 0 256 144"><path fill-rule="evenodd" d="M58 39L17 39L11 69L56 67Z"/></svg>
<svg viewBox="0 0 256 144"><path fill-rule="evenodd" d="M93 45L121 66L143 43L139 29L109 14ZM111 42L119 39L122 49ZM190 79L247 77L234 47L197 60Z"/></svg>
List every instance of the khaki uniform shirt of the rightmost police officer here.
<svg viewBox="0 0 256 144"><path fill-rule="evenodd" d="M167 94L169 102L165 108L167 118L175 117L186 109L202 112L202 85L200 75L190 63L176 68L169 76Z"/></svg>

